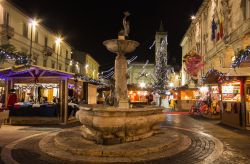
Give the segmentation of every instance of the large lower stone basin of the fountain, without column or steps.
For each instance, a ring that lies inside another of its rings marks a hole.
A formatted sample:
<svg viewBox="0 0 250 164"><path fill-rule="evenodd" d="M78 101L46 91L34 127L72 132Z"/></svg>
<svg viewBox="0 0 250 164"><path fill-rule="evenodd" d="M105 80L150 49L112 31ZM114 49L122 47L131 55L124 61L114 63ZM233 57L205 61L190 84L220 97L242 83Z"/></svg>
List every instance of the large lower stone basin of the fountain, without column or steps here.
<svg viewBox="0 0 250 164"><path fill-rule="evenodd" d="M117 109L80 107L77 119L82 136L98 144L119 144L148 138L159 133L165 116L162 108Z"/></svg>

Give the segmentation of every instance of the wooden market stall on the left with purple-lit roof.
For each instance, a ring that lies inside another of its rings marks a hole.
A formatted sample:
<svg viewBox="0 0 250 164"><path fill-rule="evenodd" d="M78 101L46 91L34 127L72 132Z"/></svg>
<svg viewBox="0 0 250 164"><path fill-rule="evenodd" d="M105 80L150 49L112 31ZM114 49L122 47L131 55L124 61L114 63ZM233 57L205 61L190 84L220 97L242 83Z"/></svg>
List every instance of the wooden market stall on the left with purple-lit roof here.
<svg viewBox="0 0 250 164"><path fill-rule="evenodd" d="M70 73L33 65L0 70L10 123L67 123L68 81L72 77ZM10 89L17 95L14 106L8 106Z"/></svg>

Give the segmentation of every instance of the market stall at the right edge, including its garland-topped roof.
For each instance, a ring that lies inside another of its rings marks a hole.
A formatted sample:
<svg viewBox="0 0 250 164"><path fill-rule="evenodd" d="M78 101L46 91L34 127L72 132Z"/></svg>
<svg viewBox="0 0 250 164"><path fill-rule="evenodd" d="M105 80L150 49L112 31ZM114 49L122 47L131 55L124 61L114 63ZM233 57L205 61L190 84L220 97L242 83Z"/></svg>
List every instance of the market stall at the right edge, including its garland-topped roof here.
<svg viewBox="0 0 250 164"><path fill-rule="evenodd" d="M222 84L222 122L250 130L250 46L240 50Z"/></svg>

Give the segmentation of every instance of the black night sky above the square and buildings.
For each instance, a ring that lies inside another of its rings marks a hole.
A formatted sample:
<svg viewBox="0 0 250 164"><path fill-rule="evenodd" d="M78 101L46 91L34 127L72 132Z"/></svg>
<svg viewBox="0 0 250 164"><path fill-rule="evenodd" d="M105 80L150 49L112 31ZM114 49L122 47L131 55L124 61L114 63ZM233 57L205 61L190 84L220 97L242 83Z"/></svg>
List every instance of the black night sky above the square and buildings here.
<svg viewBox="0 0 250 164"><path fill-rule="evenodd" d="M117 38L122 28L123 11L131 13L129 39L140 42L137 62L153 61L154 49L149 49L163 21L168 32L169 64L181 64L181 39L202 0L12 0L30 17L57 33L78 50L90 53L101 69L113 66L115 55L102 42ZM174 60L176 59L176 62Z"/></svg>

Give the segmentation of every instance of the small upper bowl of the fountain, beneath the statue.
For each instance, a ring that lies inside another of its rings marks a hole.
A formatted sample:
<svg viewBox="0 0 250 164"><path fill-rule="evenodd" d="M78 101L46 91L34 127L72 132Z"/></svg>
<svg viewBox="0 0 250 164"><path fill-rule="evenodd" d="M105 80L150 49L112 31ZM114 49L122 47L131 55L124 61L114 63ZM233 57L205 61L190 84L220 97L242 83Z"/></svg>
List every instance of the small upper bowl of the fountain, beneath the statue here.
<svg viewBox="0 0 250 164"><path fill-rule="evenodd" d="M134 40L110 39L103 42L106 48L116 54L127 54L133 52L139 43Z"/></svg>

